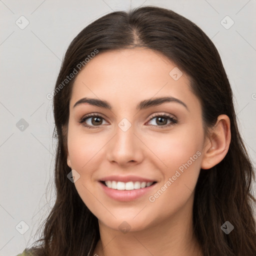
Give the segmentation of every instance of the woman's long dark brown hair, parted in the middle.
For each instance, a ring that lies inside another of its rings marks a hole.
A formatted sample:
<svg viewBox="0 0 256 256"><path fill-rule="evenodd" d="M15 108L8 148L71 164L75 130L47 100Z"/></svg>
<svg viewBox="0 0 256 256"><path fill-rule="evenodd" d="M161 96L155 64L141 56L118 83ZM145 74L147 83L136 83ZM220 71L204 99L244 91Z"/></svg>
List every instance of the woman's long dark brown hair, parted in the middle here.
<svg viewBox="0 0 256 256"><path fill-rule="evenodd" d="M168 9L144 6L128 12L114 11L90 23L66 50L53 97L57 139L55 158L56 200L43 223L34 255L92 255L99 239L97 218L78 195L67 174L66 136L69 100L74 78L63 81L77 65L95 52L143 46L167 56L190 76L190 86L199 98L206 128L217 116L230 118L231 142L224 159L200 170L195 187L193 227L205 256L255 256L256 227L251 183L253 166L239 134L231 87L220 56L211 40L193 22ZM83 61L83 62L82 62ZM86 68L86 67L85 67ZM60 84L62 83L62 86ZM229 221L229 234L221 225Z"/></svg>

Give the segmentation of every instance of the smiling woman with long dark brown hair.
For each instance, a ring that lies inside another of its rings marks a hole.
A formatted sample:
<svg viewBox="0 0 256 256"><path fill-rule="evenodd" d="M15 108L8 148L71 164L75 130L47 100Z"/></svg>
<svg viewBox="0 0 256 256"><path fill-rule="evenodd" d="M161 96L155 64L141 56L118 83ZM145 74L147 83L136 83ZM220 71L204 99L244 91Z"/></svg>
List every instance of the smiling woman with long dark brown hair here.
<svg viewBox="0 0 256 256"><path fill-rule="evenodd" d="M56 201L31 255L256 254L253 167L194 23L153 6L95 20L51 95Z"/></svg>

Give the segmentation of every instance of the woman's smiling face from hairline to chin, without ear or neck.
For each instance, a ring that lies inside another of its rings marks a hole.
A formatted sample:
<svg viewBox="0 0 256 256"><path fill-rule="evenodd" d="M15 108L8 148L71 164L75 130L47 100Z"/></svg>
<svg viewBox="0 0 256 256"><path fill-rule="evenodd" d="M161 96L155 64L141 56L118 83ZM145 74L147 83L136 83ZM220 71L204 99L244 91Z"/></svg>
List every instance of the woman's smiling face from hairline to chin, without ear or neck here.
<svg viewBox="0 0 256 256"><path fill-rule="evenodd" d="M85 97L111 109L75 105ZM85 119L90 114L95 116ZM101 224L135 231L189 215L203 146L199 100L188 76L165 56L145 48L99 52L78 73L67 164L78 194Z"/></svg>

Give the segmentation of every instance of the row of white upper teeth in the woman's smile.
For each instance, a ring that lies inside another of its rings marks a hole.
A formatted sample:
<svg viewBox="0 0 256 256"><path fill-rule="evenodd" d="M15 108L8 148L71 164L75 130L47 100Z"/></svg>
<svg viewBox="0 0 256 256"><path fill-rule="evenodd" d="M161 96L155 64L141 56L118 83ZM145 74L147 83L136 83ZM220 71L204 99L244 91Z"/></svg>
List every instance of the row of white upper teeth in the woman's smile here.
<svg viewBox="0 0 256 256"><path fill-rule="evenodd" d="M129 182L121 182L121 181L115 181L115 180L106 180L105 184L109 188L117 189L117 190L133 190L133 189L139 189L144 188L146 186L152 185L153 182L140 182L140 181L129 181Z"/></svg>

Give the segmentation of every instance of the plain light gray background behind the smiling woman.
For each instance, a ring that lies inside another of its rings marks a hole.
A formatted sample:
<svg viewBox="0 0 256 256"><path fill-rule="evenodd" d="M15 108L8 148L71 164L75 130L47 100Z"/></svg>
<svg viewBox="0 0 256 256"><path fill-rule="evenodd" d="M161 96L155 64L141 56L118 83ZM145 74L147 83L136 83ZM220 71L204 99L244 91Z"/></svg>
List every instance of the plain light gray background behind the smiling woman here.
<svg viewBox="0 0 256 256"><path fill-rule="evenodd" d="M0 255L16 255L34 241L55 199L54 123L46 94L68 44L103 14L139 5L172 9L212 39L255 164L256 0L0 0Z"/></svg>

